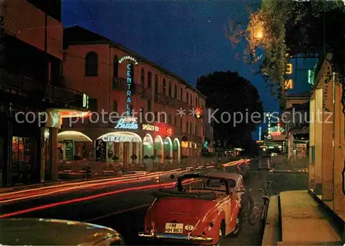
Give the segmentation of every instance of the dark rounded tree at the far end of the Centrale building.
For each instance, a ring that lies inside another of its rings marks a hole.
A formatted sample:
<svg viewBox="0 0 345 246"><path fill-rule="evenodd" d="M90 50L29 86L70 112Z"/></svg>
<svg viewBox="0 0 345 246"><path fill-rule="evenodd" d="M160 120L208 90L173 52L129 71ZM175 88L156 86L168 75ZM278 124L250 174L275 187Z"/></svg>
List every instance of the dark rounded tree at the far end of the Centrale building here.
<svg viewBox="0 0 345 246"><path fill-rule="evenodd" d="M215 110L216 145L241 147L251 141L250 133L262 119L263 106L250 81L237 72L213 72L197 79L197 89L207 96L206 107Z"/></svg>

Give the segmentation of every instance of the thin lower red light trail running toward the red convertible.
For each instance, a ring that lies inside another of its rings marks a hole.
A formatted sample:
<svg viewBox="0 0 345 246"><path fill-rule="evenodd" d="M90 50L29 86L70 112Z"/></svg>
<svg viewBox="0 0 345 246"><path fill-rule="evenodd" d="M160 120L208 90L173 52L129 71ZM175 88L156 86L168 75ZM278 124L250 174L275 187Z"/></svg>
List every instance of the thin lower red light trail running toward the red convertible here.
<svg viewBox="0 0 345 246"><path fill-rule="evenodd" d="M183 182L184 185L189 185L190 183L195 183L195 182L199 182L200 180L194 180L193 178L190 178L188 180L186 180L185 182ZM153 189L153 188L157 188L157 187L164 187L164 188L172 188L175 187L175 182L172 183L163 183L163 184L158 184L158 185L144 185L144 186L139 186L139 187L130 187L130 188L126 188L126 189L119 189L113 192L106 192L106 193L102 193L102 194L97 194L97 195L93 195L93 196L86 196L83 198L75 198L75 199L71 199L68 201L62 201L62 202L58 202L58 203L50 203L47 205L41 205L38 207L32 207L29 209L23 209L23 210L19 210L17 212L11 212L8 214L2 214L0 215L0 218L8 218L10 216L17 216L20 214L27 214L30 212L36 212L42 209L48 209L51 207L57 207L57 206L61 206L61 205L67 205L67 204L71 204L71 203L80 203L83 201L89 201L92 199L96 199L96 198L101 198L103 196L110 196L110 195L114 195L114 194L119 194L119 193L124 193L124 192L132 192L132 191L137 191L140 189Z"/></svg>

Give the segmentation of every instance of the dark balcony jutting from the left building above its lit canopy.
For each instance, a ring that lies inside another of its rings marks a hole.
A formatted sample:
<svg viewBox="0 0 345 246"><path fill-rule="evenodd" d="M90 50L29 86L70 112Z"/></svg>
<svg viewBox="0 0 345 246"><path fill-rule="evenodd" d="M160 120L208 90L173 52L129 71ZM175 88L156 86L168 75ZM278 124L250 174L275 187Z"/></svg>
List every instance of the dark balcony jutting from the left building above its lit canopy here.
<svg viewBox="0 0 345 246"><path fill-rule="evenodd" d="M49 83L43 83L27 76L19 74L4 74L2 98L8 101L21 101L21 103L41 107L62 107L76 110L86 110L84 94L70 88L57 87Z"/></svg>

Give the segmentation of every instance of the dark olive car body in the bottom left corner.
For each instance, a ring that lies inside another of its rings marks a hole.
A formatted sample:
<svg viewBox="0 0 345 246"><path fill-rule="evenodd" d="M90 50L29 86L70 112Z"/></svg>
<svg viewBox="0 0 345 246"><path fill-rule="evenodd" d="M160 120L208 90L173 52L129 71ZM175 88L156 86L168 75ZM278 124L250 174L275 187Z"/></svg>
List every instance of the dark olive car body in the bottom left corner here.
<svg viewBox="0 0 345 246"><path fill-rule="evenodd" d="M108 227L46 218L0 220L1 245L94 245L107 238L121 237Z"/></svg>

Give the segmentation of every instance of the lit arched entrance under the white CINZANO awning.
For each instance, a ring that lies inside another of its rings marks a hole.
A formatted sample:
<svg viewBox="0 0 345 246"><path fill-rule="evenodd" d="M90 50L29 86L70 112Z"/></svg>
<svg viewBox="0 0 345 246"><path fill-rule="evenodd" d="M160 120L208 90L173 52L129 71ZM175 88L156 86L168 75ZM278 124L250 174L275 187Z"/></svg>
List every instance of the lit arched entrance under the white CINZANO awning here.
<svg viewBox="0 0 345 246"><path fill-rule="evenodd" d="M141 137L134 132L109 132L95 141L96 161L121 161L140 163L142 154ZM131 156L137 156L132 161Z"/></svg>

